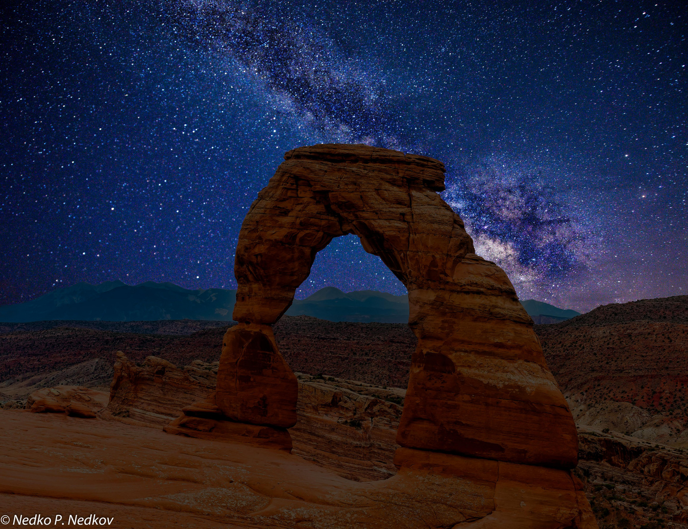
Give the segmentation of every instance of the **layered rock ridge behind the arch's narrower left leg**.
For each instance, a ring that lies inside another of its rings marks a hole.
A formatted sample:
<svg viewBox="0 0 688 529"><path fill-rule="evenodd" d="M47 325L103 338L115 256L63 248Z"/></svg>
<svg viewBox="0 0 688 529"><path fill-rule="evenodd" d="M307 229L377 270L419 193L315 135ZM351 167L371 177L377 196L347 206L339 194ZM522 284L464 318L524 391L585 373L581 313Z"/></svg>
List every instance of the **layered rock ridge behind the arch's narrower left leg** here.
<svg viewBox="0 0 688 529"><path fill-rule="evenodd" d="M137 366L120 353L115 372L100 418L206 440L293 447L294 454L355 481L396 473L392 460L403 389L299 373L297 424L290 436L286 429L228 420L215 404L217 363L194 360L175 367L149 356Z"/></svg>

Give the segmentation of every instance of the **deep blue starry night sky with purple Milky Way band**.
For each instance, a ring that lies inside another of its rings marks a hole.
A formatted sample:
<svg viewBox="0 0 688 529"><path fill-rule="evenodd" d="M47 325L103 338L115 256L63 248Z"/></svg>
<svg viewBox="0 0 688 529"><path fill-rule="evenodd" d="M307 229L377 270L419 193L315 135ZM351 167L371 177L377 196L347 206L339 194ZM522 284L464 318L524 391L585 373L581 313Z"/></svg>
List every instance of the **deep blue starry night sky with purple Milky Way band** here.
<svg viewBox="0 0 688 529"><path fill-rule="evenodd" d="M0 8L0 303L79 281L235 288L294 147L447 166L522 299L688 294L688 7L633 1L42 1ZM402 294L354 236L303 298Z"/></svg>

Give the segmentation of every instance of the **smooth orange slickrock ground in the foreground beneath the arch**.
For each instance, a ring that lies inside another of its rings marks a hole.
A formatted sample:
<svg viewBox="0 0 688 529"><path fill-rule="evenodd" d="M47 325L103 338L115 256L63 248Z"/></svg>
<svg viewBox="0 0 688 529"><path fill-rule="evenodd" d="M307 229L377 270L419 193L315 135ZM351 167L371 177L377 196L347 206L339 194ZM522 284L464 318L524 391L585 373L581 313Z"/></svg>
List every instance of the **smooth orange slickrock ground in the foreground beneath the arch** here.
<svg viewBox="0 0 688 529"><path fill-rule="evenodd" d="M480 528L563 528L581 512L576 482L544 467L426 452L433 470L355 482L244 443L64 413L0 414L3 513L94 512L136 529L459 529L475 519Z"/></svg>

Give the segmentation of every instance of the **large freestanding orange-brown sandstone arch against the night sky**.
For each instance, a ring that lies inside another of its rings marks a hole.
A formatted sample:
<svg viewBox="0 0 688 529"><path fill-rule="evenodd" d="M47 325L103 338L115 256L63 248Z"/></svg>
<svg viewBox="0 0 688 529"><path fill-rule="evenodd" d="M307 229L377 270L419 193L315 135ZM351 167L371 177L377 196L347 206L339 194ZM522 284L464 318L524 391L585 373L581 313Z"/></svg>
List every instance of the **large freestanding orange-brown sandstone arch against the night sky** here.
<svg viewBox="0 0 688 529"><path fill-rule="evenodd" d="M443 164L423 156L340 144L286 153L241 226L239 325L224 338L215 396L226 417L282 433L294 425L297 380L270 325L316 253L354 233L406 285L418 336L399 464L439 451L575 466L574 422L532 321L506 274L475 255L443 189Z"/></svg>

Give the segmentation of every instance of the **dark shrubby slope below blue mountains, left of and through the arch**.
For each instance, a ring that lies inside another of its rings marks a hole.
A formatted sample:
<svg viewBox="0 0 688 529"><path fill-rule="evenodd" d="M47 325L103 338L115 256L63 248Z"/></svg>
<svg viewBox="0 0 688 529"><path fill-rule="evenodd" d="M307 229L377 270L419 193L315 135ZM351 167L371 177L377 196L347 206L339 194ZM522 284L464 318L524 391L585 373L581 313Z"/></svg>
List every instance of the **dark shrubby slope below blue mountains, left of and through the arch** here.
<svg viewBox="0 0 688 529"><path fill-rule="evenodd" d="M222 352L222 336L233 323L186 320L76 325L80 327L50 328L47 322L5 324L6 334L0 334L0 392L5 399L25 398L35 389L59 384L105 387L118 351L138 363L150 355L176 365L193 360L214 362ZM107 330L98 330L99 325ZM116 332L116 325L124 332ZM334 323L310 316L283 316L275 325L275 336L294 371L390 387L406 387L411 352L416 347L416 337L408 325L400 323Z"/></svg>

